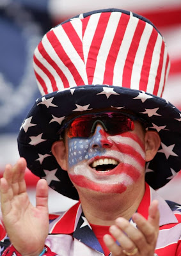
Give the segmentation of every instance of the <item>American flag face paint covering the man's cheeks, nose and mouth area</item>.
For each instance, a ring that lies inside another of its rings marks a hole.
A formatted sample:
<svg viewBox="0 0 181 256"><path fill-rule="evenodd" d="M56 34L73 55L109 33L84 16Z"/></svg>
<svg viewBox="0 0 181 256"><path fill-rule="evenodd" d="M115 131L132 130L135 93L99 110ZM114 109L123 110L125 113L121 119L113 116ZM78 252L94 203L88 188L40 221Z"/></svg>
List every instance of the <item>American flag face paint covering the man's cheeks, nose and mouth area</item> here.
<svg viewBox="0 0 181 256"><path fill-rule="evenodd" d="M90 138L68 138L68 175L82 188L122 193L145 168L145 147L133 132L109 136L100 125Z"/></svg>

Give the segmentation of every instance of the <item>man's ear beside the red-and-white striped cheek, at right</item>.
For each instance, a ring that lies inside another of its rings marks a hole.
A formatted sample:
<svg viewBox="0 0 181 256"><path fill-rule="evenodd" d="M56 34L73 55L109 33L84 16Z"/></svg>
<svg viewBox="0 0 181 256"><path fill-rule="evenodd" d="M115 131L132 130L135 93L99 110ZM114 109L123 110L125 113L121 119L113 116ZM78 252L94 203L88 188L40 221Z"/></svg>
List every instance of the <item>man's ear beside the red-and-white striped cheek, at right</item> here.
<svg viewBox="0 0 181 256"><path fill-rule="evenodd" d="M149 162L157 154L157 151L161 145L161 138L156 131L146 131L145 134L145 161Z"/></svg>

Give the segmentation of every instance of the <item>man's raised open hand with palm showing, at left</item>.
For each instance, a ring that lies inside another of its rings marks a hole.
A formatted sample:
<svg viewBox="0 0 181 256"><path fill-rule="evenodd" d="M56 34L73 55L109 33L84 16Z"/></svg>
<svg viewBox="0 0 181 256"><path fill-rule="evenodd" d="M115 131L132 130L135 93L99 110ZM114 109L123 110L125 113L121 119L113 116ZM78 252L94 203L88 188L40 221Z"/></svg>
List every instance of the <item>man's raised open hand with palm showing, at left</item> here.
<svg viewBox="0 0 181 256"><path fill-rule="evenodd" d="M26 160L20 158L14 166L6 165L1 178L1 211L8 237L22 255L39 255L49 232L48 185L38 180L36 207L28 198L24 173Z"/></svg>

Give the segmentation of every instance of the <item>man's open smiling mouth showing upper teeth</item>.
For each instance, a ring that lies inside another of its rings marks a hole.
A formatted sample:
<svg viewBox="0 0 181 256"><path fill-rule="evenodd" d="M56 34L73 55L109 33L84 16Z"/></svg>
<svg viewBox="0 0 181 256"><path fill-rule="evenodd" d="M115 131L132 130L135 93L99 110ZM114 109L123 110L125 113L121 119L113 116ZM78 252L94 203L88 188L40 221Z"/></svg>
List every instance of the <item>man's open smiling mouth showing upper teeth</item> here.
<svg viewBox="0 0 181 256"><path fill-rule="evenodd" d="M90 167L97 172L110 172L119 164L118 161L111 158L97 159L90 164Z"/></svg>

